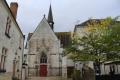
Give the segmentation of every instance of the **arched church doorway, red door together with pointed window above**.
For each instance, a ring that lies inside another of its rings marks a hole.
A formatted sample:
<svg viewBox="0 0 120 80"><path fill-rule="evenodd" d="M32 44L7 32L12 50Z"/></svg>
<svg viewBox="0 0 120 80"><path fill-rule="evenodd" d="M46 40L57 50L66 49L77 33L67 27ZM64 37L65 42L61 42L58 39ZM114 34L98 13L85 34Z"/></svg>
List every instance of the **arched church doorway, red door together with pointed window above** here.
<svg viewBox="0 0 120 80"><path fill-rule="evenodd" d="M40 76L47 76L47 55L45 53L42 53L40 58Z"/></svg>

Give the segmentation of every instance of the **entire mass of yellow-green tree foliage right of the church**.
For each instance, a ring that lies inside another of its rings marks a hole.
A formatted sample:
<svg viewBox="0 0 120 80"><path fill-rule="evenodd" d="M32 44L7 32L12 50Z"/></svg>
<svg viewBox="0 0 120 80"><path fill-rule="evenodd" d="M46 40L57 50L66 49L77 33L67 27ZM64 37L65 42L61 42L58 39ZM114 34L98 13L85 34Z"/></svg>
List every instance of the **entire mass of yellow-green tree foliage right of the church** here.
<svg viewBox="0 0 120 80"><path fill-rule="evenodd" d="M107 18L100 24L89 24L88 32L81 38L74 38L66 53L73 60L119 60L120 24Z"/></svg>

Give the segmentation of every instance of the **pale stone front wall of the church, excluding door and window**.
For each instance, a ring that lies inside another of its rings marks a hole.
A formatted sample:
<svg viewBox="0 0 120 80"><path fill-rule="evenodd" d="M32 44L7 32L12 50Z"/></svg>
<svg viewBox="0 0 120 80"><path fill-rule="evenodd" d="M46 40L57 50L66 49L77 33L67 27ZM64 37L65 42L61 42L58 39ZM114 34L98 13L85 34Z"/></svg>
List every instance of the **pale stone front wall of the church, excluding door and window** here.
<svg viewBox="0 0 120 80"><path fill-rule="evenodd" d="M47 63L45 63L45 65L47 65L47 75L58 75L61 56L60 41L51 30L45 18L42 19L28 41L28 66L31 68L35 68L36 65L40 67L42 53L47 56ZM32 75L35 73L32 70L30 72Z"/></svg>

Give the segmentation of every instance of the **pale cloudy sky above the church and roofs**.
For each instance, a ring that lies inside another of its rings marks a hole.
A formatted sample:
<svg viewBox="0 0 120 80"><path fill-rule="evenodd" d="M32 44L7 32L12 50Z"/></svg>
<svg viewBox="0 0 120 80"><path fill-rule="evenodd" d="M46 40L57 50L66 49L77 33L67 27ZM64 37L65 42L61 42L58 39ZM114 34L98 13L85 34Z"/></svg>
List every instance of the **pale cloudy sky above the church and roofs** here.
<svg viewBox="0 0 120 80"><path fill-rule="evenodd" d="M76 24L90 18L120 15L120 0L7 0L18 2L17 22L24 34L33 32L43 18L48 16L50 3L54 18L54 31L72 31Z"/></svg>

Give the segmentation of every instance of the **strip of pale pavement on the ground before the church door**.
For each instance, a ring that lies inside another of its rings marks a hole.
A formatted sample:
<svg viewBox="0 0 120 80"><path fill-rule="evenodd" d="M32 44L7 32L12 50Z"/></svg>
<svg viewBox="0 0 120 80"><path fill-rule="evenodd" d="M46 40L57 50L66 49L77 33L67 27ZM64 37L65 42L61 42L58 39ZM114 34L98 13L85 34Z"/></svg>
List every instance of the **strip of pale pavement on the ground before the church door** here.
<svg viewBox="0 0 120 80"><path fill-rule="evenodd" d="M62 77L30 77L28 80L72 80L72 79L66 79Z"/></svg>

